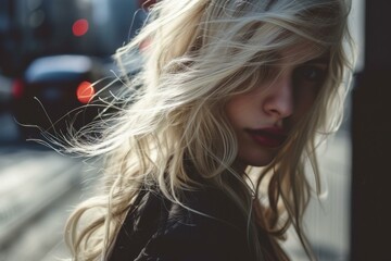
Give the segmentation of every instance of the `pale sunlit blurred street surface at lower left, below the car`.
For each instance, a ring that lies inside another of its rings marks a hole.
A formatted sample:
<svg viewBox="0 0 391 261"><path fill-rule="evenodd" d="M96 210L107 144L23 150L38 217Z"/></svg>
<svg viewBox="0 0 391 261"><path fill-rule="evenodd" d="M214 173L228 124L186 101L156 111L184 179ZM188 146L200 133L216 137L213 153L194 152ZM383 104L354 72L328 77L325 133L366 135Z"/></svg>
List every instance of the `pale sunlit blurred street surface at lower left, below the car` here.
<svg viewBox="0 0 391 261"><path fill-rule="evenodd" d="M37 145L0 147L0 261L53 260L63 251L86 173L79 160Z"/></svg>

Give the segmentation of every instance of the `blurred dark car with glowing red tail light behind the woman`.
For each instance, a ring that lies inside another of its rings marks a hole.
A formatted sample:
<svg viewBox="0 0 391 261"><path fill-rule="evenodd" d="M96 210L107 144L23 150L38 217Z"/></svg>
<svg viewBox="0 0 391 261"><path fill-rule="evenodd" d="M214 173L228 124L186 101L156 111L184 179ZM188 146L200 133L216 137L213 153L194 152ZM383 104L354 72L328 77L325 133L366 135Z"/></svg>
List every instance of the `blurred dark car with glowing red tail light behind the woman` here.
<svg viewBox="0 0 391 261"><path fill-rule="evenodd" d="M14 100L14 115L24 138L36 138L42 130L64 134L71 125L78 129L90 123L100 110L92 99L103 86L94 83L106 75L106 64L87 55L34 60L17 80Z"/></svg>

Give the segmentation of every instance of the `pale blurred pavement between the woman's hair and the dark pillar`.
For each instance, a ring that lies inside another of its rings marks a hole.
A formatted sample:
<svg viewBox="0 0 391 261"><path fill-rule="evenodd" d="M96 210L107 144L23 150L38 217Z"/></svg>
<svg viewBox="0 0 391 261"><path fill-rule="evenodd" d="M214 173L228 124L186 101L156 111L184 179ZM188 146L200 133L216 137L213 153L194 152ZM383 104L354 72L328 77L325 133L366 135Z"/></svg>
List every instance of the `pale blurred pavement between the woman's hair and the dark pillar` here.
<svg viewBox="0 0 391 261"><path fill-rule="evenodd" d="M319 167L324 194L313 197L304 217L310 243L319 261L349 260L350 250L350 191L351 141L348 133L340 132L319 148ZM292 235L292 233L290 233ZM307 260L299 247L295 235L286 247L292 260Z"/></svg>

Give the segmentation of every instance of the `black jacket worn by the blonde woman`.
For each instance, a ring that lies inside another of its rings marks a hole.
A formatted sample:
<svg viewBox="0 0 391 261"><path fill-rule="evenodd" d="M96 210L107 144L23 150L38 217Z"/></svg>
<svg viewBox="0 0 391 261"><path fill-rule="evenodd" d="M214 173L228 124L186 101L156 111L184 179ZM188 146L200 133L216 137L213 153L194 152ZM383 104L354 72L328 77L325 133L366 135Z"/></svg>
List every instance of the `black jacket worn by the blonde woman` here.
<svg viewBox="0 0 391 261"><path fill-rule="evenodd" d="M110 261L252 261L247 222L216 189L186 195L190 211L141 191L117 235Z"/></svg>

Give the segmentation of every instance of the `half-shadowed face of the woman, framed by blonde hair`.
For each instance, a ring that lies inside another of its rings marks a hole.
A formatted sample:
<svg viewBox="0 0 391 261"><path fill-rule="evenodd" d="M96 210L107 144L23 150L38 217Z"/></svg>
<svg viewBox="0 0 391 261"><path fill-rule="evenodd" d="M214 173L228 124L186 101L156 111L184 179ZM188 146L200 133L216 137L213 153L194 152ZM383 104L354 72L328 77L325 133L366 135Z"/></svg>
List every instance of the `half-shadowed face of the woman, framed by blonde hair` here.
<svg viewBox="0 0 391 261"><path fill-rule="evenodd" d="M294 124L311 110L327 75L328 59L319 54L303 61L306 50L308 45L301 45L276 53L278 63L267 69L269 76L226 104L238 139L238 166L270 163Z"/></svg>

